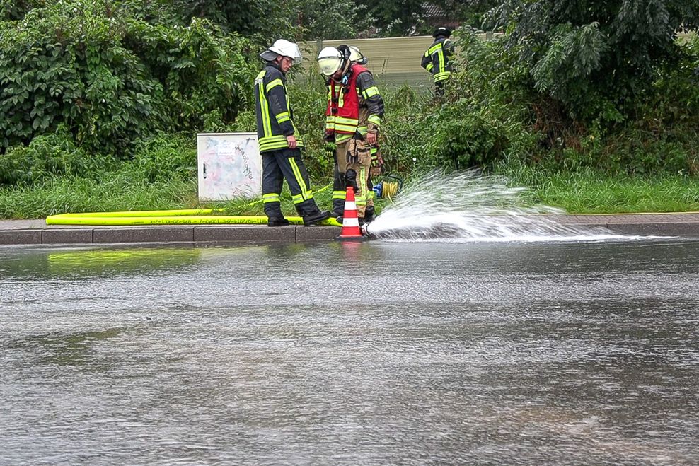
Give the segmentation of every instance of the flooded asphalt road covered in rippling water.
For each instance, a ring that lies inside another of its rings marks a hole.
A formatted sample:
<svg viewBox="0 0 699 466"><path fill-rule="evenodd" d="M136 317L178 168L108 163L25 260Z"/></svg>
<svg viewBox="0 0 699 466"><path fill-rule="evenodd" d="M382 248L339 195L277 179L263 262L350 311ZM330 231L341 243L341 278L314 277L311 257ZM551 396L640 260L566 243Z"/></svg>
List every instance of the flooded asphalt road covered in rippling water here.
<svg viewBox="0 0 699 466"><path fill-rule="evenodd" d="M0 249L0 463L699 463L699 241Z"/></svg>

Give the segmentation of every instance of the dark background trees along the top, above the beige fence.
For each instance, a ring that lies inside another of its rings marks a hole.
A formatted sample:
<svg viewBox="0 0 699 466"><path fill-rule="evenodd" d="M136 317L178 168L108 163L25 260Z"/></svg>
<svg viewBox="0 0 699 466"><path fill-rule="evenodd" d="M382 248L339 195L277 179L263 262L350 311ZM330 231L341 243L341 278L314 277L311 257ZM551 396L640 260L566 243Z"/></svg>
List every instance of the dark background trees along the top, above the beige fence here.
<svg viewBox="0 0 699 466"><path fill-rule="evenodd" d="M30 1L30 0L27 0ZM40 0L33 0L40 1ZM432 34L435 25L480 25L499 0L126 0L144 18L207 18L258 45L272 37L333 40ZM435 16L427 16L427 13Z"/></svg>

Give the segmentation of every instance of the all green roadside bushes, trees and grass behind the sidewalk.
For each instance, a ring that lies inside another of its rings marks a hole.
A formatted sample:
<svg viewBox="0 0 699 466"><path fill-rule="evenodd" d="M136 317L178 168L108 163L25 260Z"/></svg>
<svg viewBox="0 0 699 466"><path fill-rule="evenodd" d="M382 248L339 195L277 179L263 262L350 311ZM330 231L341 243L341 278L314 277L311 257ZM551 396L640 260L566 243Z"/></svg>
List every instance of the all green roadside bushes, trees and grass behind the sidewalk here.
<svg viewBox="0 0 699 466"><path fill-rule="evenodd" d="M468 25L456 31L458 74L441 101L383 86L391 173L478 168L575 213L699 211L699 38L674 37L697 25L699 6L539 3L461 11L465 23L507 34L486 42ZM260 27L311 40L328 6L289 2L306 8L299 27L284 8L250 16L265 2L224 4L0 0L0 218L211 206L197 201L196 133L254 131L252 81L270 42ZM357 35L354 24L338 20L324 37ZM397 27L376 24L386 35ZM323 81L295 72L306 163L329 206ZM255 199L224 206L262 214Z"/></svg>

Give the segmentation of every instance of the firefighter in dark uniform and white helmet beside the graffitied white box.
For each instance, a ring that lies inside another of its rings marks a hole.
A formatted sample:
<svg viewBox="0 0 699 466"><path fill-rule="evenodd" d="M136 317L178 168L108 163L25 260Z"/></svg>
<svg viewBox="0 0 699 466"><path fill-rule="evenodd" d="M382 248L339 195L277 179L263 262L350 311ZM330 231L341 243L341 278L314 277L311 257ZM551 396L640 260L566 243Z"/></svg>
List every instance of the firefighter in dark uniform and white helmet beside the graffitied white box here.
<svg viewBox="0 0 699 466"><path fill-rule="evenodd" d="M320 211L313 199L306 165L301 159L304 141L294 124L286 87L286 74L292 64L301 62L301 52L294 42L280 39L260 57L267 63L255 78L255 112L267 225L289 225L279 204L284 179L304 225L314 225L328 219L330 212Z"/></svg>

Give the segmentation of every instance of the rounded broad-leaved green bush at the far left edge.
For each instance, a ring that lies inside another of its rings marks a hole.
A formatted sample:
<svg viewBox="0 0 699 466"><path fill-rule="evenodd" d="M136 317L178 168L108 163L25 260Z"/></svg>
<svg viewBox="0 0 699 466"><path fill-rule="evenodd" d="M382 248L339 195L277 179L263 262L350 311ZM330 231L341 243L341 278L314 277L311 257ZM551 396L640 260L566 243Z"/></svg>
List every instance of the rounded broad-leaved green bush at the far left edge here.
<svg viewBox="0 0 699 466"><path fill-rule="evenodd" d="M77 143L115 152L163 126L163 88L121 46L120 29L98 2L0 23L0 147L65 124Z"/></svg>

